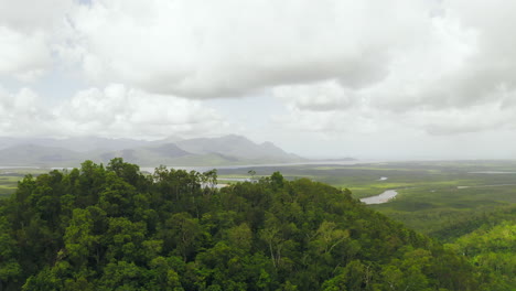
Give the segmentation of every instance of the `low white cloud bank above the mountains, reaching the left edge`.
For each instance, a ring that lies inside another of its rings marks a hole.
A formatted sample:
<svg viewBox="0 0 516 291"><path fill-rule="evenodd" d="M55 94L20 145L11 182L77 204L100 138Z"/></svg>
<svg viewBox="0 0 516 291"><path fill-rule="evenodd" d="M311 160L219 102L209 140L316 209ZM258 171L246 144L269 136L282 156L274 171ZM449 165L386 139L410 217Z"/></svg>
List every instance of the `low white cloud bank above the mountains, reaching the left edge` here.
<svg viewBox="0 0 516 291"><path fill-rule="evenodd" d="M52 108L31 89L14 94L1 89L0 129L7 136L158 139L206 132L216 136L227 129L227 123L200 101L112 84L105 89L82 90Z"/></svg>

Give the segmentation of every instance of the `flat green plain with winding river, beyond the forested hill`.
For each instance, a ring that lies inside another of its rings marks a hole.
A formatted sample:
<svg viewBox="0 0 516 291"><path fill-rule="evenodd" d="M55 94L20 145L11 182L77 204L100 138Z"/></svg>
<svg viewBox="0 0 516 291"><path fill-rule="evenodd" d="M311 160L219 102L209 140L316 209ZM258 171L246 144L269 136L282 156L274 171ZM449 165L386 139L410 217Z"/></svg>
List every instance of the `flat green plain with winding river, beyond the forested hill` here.
<svg viewBox="0 0 516 291"><path fill-rule="evenodd" d="M369 207L437 238L459 237L490 219L516 219L516 161L256 166L218 173L241 179L250 176L249 170L256 177L280 171L290 180L308 177L346 187L357 198L397 190L395 200Z"/></svg>

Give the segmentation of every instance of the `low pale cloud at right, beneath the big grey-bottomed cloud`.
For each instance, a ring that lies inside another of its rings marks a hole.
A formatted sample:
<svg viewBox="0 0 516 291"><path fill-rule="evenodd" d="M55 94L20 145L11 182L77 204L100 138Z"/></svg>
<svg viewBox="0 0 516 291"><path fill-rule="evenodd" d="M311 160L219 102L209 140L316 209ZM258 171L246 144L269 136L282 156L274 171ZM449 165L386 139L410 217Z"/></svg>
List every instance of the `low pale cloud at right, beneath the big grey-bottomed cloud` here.
<svg viewBox="0 0 516 291"><path fill-rule="evenodd" d="M402 110L383 103L375 104L366 93L350 93L334 82L283 86L273 94L288 106L288 112L275 122L286 129L342 134L378 134L422 131L432 136L466 132L514 130L516 127L516 90L498 87L485 100L469 106L433 106L424 103Z"/></svg>

